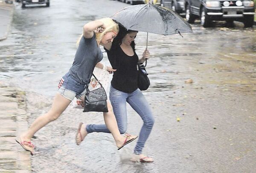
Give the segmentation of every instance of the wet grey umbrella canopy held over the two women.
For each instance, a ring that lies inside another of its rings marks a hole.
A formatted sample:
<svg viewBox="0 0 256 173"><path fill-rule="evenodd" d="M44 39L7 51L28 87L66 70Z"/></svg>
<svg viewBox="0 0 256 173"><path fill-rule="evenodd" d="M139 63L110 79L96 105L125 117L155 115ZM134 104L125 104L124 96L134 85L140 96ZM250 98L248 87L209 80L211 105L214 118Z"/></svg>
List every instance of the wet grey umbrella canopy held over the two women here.
<svg viewBox="0 0 256 173"><path fill-rule="evenodd" d="M113 16L113 20L134 31L171 35L192 32L192 28L179 14L151 3L126 7Z"/></svg>

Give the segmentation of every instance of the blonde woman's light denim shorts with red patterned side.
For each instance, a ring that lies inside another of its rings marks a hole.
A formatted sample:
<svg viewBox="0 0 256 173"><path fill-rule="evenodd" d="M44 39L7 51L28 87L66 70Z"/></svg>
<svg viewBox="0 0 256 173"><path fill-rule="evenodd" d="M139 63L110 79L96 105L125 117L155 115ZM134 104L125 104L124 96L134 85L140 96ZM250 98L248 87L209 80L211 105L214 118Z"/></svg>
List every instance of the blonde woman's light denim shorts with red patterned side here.
<svg viewBox="0 0 256 173"><path fill-rule="evenodd" d="M58 83L58 93L72 101L75 97L79 99L84 96L87 85L76 82L71 74L67 72Z"/></svg>

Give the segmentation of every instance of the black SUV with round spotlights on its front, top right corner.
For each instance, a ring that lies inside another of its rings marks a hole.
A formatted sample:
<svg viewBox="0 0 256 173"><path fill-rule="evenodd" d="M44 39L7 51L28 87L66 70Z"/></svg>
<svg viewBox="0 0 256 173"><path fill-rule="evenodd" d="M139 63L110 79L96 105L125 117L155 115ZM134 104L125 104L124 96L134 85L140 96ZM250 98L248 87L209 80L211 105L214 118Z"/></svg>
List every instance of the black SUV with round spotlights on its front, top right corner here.
<svg viewBox="0 0 256 173"><path fill-rule="evenodd" d="M209 27L213 20L232 23L237 20L243 22L244 27L253 27L253 0L185 0L184 4L189 23L199 18L202 26Z"/></svg>

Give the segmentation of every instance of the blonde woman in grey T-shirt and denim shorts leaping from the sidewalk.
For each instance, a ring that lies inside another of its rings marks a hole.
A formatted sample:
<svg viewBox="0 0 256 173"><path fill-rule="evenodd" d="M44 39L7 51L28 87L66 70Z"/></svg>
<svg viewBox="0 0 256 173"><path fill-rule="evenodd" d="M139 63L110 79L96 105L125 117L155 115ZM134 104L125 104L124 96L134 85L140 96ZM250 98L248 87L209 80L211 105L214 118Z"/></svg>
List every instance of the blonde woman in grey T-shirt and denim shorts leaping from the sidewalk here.
<svg viewBox="0 0 256 173"><path fill-rule="evenodd" d="M112 42L118 31L118 25L110 18L95 20L84 25L73 65L58 83L58 93L55 95L51 109L35 119L29 129L16 139L16 142L25 150L30 151L31 155L33 155L35 147L31 143L32 136L49 122L57 119L75 97L82 98L84 96L84 90L90 82L94 67L103 68L104 66L100 62L103 54L99 45ZM115 71L111 67L107 67L107 70ZM103 117L118 149L138 137L121 136L110 102L108 102L108 112L103 113ZM86 135L85 125L80 123L76 134L76 144L80 145Z"/></svg>

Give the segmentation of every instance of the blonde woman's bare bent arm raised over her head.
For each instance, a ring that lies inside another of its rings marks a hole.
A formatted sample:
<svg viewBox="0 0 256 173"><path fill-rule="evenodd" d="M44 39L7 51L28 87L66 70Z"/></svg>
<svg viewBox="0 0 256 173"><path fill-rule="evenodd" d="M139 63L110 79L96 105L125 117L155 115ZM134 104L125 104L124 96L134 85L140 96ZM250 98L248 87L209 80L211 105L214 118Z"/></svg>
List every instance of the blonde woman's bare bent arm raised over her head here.
<svg viewBox="0 0 256 173"><path fill-rule="evenodd" d="M105 30L105 25L99 20L94 20L92 22L86 23L83 27L83 35L85 38L92 38L93 31L102 32Z"/></svg>

